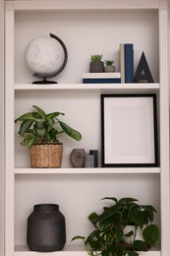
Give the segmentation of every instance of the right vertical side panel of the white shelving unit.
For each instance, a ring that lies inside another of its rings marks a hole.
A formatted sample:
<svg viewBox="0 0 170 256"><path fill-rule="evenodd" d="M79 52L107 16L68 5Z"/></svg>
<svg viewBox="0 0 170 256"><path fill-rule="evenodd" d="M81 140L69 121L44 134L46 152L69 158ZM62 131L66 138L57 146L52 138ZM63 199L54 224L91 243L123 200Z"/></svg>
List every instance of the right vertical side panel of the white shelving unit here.
<svg viewBox="0 0 170 256"><path fill-rule="evenodd" d="M159 10L161 251L163 256L169 256L170 254L169 100L168 100L169 85L168 85L168 64L167 64L167 56L168 56L167 25L168 25L168 13L167 13L167 7L165 6L160 8Z"/></svg>

